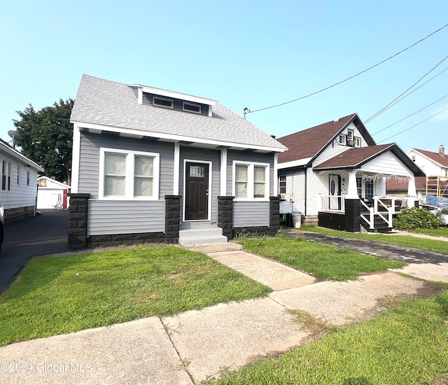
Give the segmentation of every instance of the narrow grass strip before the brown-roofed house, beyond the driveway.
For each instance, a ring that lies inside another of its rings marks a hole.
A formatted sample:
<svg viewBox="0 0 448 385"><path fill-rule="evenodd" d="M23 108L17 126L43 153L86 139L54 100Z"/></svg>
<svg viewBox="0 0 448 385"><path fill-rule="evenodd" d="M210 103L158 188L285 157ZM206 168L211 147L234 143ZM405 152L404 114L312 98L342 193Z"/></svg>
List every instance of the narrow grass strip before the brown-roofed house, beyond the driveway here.
<svg viewBox="0 0 448 385"><path fill-rule="evenodd" d="M335 235L336 237L367 239L368 241L377 241L382 242L384 244L397 244L400 246L423 248L425 250L436 251L438 253L448 253L447 241L438 241L437 239L417 238L412 237L412 235L384 235L378 233L366 234L360 232L345 232L325 228L315 228L314 226L302 226L300 230L320 232L321 234ZM430 234L430 232L428 232L428 234Z"/></svg>

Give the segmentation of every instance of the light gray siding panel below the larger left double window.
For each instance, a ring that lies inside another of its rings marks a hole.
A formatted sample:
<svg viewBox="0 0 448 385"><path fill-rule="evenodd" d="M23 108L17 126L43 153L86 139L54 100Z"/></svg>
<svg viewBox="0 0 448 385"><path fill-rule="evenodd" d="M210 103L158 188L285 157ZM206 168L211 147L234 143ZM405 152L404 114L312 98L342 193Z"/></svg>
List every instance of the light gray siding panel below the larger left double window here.
<svg viewBox="0 0 448 385"><path fill-rule="evenodd" d="M165 232L165 200L89 200L90 235Z"/></svg>

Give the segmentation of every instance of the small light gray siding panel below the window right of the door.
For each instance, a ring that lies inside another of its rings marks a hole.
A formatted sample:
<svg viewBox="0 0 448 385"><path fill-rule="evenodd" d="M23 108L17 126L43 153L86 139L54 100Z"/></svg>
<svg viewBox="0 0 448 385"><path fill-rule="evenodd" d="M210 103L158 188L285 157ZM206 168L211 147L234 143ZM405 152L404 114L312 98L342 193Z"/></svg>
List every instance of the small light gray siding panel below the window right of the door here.
<svg viewBox="0 0 448 385"><path fill-rule="evenodd" d="M233 227L269 226L269 202L233 202Z"/></svg>

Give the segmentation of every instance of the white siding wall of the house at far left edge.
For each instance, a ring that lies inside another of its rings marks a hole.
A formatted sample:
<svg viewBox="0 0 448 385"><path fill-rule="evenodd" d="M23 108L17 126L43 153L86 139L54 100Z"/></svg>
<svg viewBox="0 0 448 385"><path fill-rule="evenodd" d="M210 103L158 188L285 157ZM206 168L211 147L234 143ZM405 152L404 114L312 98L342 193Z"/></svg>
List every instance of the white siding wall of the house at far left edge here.
<svg viewBox="0 0 448 385"><path fill-rule="evenodd" d="M14 160L0 153L0 182L2 161L10 162L10 190L1 190L0 183L0 204L4 209L18 209L20 207L29 207L36 204L37 194L37 171L27 167L22 162ZM18 167L20 168L19 184L17 183ZM27 186L27 172L29 172L29 185Z"/></svg>

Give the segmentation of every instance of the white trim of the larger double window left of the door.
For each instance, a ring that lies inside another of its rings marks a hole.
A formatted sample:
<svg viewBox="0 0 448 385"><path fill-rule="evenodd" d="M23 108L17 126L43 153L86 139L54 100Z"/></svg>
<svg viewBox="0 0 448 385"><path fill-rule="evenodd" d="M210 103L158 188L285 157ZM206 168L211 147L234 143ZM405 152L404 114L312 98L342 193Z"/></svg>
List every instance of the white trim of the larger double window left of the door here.
<svg viewBox="0 0 448 385"><path fill-rule="evenodd" d="M125 196L104 196L104 154L116 153L126 155L126 174L125 174ZM134 197L134 157L135 155L151 156L154 158L153 165L153 196L152 197ZM147 153L145 151L122 150L118 148L100 148L99 149L99 200L159 200L160 183L160 154Z"/></svg>

